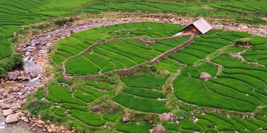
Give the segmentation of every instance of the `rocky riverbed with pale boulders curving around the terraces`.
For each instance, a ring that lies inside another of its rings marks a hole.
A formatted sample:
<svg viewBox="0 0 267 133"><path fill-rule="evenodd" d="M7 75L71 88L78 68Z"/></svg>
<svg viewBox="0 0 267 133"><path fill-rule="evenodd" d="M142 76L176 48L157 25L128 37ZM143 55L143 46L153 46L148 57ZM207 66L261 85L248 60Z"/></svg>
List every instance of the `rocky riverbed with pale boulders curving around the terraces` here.
<svg viewBox="0 0 267 133"><path fill-rule="evenodd" d="M141 18L129 17L116 19L103 17L98 20L82 21L79 23L70 23L46 31L40 31L40 34L29 32L32 39L21 42L17 45L17 52L24 57L24 65L12 72L9 72L4 78L0 79L0 84L4 86L0 89L0 133L42 133L48 131L55 133L64 131L73 133L73 128L64 126L55 126L51 122L41 121L42 116L32 116L27 110L21 111L21 106L28 104L27 95L33 94L42 87L49 79L46 77L45 69L52 67L46 65L50 46L59 39L69 36L71 32L80 32L92 27L101 27L127 22L169 22L176 24L189 24L193 20L185 19L166 19L166 18ZM221 25L213 23L214 28L224 28L234 31L244 31L257 35L267 36L266 26L263 28L253 28L250 25L228 24ZM42 100L45 100L44 98ZM34 101L31 103L34 104ZM6 118L5 118L6 117Z"/></svg>

